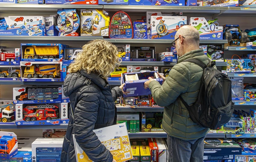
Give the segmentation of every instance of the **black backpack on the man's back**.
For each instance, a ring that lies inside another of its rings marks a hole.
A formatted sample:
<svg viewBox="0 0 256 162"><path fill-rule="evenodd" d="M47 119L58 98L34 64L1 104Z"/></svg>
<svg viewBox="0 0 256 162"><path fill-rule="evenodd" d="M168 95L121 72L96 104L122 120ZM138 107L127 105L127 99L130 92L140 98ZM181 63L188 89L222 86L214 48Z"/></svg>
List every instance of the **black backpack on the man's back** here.
<svg viewBox="0 0 256 162"><path fill-rule="evenodd" d="M231 99L231 80L226 74L215 69L215 61L207 66L199 60L189 58L182 62L192 62L204 69L197 101L189 106L190 119L205 128L217 129L227 123L232 116L234 103Z"/></svg>

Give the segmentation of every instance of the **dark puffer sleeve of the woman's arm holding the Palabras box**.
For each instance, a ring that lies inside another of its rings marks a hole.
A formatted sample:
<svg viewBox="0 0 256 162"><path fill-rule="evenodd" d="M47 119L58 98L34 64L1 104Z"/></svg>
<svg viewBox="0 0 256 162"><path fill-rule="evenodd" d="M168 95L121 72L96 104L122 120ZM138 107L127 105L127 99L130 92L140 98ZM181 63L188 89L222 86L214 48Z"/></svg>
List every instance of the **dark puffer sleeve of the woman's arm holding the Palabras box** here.
<svg viewBox="0 0 256 162"><path fill-rule="evenodd" d="M92 161L112 162L113 155L93 132L100 102L97 90L83 90L77 99L73 124L76 142Z"/></svg>

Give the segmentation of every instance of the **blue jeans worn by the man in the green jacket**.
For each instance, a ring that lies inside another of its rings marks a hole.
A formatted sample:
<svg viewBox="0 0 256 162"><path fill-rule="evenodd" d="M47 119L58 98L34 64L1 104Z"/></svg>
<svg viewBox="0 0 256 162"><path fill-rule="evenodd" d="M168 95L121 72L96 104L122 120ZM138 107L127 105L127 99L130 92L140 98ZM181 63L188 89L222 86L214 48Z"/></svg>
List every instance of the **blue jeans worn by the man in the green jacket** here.
<svg viewBox="0 0 256 162"><path fill-rule="evenodd" d="M169 162L203 162L204 138L184 141L167 136Z"/></svg>

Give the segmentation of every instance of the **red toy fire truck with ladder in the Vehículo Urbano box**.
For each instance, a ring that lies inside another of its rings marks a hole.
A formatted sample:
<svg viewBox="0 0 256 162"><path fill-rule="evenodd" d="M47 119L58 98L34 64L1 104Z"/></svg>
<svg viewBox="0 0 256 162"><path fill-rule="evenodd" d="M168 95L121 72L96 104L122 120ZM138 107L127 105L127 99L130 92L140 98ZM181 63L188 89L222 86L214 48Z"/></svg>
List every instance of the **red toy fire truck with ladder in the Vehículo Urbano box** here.
<svg viewBox="0 0 256 162"><path fill-rule="evenodd" d="M23 109L24 121L58 119L59 109L55 105L26 106Z"/></svg>

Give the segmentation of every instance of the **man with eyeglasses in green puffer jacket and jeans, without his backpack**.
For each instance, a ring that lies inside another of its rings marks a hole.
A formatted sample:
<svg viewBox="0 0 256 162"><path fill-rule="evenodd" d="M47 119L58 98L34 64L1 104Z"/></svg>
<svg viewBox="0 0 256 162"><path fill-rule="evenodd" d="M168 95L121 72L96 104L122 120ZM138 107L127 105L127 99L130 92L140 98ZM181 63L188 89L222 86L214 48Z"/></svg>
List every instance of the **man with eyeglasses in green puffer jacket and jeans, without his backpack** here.
<svg viewBox="0 0 256 162"><path fill-rule="evenodd" d="M191 62L181 62L195 58L208 64L209 58L199 49L199 32L192 26L182 26L175 35L172 45L176 47L179 59L160 85L152 78L145 82L150 88L154 101L164 107L162 127L167 133L170 162L202 162L204 138L209 128L192 122L189 112L179 96L192 105L198 98L203 69Z"/></svg>

